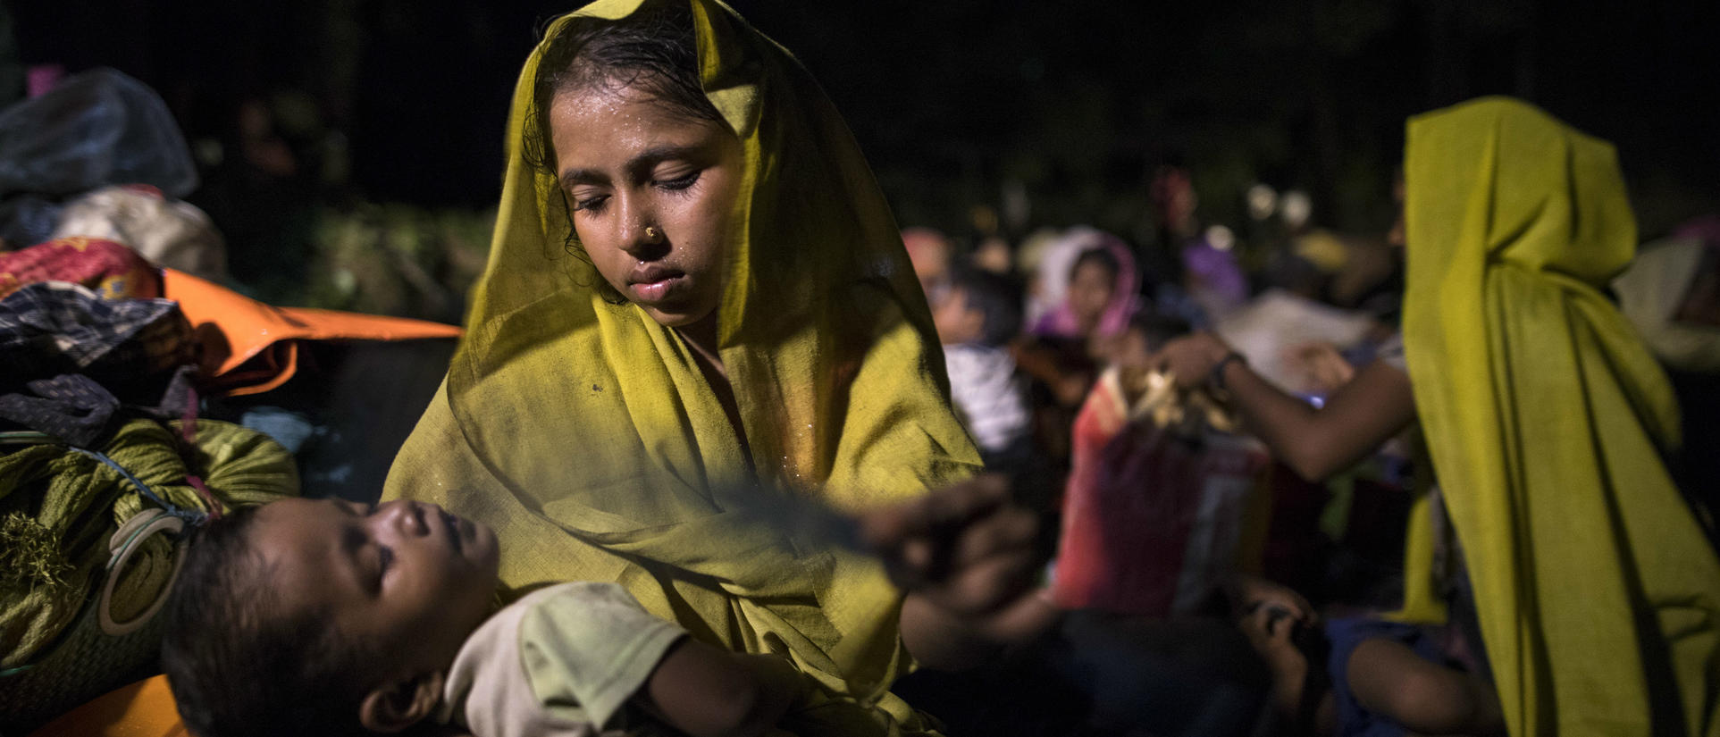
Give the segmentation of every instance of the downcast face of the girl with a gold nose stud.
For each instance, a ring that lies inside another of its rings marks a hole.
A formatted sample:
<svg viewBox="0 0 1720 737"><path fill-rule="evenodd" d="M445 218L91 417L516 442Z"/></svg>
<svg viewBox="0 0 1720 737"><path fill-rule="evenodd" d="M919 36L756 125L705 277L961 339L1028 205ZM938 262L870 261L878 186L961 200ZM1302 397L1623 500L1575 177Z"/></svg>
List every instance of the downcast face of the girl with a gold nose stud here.
<svg viewBox="0 0 1720 737"><path fill-rule="evenodd" d="M716 314L726 280L741 143L635 88L554 98L556 170L592 265L657 323Z"/></svg>

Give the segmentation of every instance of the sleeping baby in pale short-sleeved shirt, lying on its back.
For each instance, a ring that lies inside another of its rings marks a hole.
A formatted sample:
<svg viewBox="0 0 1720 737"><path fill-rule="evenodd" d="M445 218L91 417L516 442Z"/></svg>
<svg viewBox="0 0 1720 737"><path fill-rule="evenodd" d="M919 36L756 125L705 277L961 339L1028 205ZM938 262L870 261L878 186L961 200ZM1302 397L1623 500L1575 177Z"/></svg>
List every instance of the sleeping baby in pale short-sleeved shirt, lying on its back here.
<svg viewBox="0 0 1720 737"><path fill-rule="evenodd" d="M616 584L495 612L495 534L430 503L246 507L193 545L162 663L201 737L759 734L803 689L788 660L690 639Z"/></svg>

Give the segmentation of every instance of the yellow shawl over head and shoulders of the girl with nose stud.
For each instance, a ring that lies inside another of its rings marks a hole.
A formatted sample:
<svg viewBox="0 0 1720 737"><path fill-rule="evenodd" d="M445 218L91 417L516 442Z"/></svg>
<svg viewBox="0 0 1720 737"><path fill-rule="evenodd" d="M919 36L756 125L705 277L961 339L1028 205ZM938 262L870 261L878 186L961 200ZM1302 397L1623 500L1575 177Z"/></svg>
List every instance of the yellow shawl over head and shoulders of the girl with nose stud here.
<svg viewBox="0 0 1720 737"><path fill-rule="evenodd" d="M822 684L798 732L924 730L886 691L912 663L877 563L736 529L724 512L759 493L753 478L858 509L979 469L925 297L870 168L805 69L717 2L691 2L705 93L745 149L719 350L750 457L681 338L605 302L602 277L564 251L561 191L525 156L540 45L514 91L466 338L385 496L494 526L509 588L617 581L700 639L789 655ZM640 5L592 3L545 38Z"/></svg>

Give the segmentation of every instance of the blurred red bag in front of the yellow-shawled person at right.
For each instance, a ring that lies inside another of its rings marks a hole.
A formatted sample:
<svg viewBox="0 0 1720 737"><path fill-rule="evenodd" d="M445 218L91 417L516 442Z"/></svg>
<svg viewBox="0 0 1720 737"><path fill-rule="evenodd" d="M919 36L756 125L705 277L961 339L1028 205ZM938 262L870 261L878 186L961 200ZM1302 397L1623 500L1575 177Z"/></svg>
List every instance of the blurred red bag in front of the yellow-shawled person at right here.
<svg viewBox="0 0 1720 737"><path fill-rule="evenodd" d="M1163 617L1199 608L1264 543L1268 454L1180 412L1164 392L1127 407L1115 371L1075 419L1051 593L1065 608ZM1166 409L1173 409L1166 412Z"/></svg>

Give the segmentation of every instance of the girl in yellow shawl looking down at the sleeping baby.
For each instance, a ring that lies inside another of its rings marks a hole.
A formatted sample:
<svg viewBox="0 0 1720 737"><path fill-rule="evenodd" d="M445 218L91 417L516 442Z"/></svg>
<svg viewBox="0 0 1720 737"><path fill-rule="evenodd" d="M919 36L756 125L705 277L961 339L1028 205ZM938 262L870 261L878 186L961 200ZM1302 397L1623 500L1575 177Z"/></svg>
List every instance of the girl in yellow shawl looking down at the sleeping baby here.
<svg viewBox="0 0 1720 737"><path fill-rule="evenodd" d="M759 486L862 509L979 469L817 84L714 0L602 0L526 60L507 156L466 340L384 496L492 526L514 591L616 581L700 641L789 658L817 685L807 732L925 730L889 684L1041 610L1015 555L1032 522L968 509L974 565L906 598L872 558L733 522Z"/></svg>

